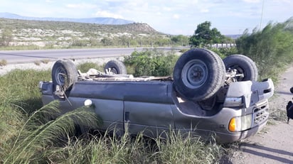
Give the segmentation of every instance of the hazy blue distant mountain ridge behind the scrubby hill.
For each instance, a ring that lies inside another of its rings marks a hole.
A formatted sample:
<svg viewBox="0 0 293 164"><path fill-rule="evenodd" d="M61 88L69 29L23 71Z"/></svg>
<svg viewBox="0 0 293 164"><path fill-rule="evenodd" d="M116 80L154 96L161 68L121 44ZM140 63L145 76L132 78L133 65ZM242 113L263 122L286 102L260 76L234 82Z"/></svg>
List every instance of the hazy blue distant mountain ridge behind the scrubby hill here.
<svg viewBox="0 0 293 164"><path fill-rule="evenodd" d="M95 24L107 24L107 25L122 25L134 23L134 21L129 21L121 18L52 18L52 17L31 17L31 16L20 16L15 13L0 13L0 18L11 18L11 19L22 19L30 21L68 21L68 22L78 22L78 23L95 23Z"/></svg>

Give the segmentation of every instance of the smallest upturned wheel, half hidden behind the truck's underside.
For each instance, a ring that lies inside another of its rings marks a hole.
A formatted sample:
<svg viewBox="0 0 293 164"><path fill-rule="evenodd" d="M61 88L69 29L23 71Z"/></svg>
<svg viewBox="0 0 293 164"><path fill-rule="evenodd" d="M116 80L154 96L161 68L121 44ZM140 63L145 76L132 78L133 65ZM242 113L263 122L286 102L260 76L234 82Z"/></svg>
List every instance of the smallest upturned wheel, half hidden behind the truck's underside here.
<svg viewBox="0 0 293 164"><path fill-rule="evenodd" d="M127 70L123 62L119 60L110 60L105 65L105 72L112 72L113 74L127 75Z"/></svg>

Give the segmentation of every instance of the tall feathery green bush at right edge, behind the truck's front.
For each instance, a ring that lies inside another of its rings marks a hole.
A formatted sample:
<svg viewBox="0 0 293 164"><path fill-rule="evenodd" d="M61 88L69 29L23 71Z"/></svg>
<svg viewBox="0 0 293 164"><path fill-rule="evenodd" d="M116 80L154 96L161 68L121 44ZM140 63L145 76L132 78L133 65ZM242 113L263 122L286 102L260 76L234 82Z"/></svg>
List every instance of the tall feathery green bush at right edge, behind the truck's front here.
<svg viewBox="0 0 293 164"><path fill-rule="evenodd" d="M247 31L236 40L238 53L257 63L260 80L277 77L293 59L293 19L284 23L269 23L262 31Z"/></svg>

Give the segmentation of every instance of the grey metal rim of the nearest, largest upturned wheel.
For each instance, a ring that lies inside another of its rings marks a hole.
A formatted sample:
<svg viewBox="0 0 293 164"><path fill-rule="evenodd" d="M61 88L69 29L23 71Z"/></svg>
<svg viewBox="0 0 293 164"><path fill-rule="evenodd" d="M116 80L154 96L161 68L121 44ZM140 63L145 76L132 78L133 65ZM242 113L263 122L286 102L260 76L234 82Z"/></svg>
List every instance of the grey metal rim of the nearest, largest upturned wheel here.
<svg viewBox="0 0 293 164"><path fill-rule="evenodd" d="M208 67L201 60L191 60L184 65L181 78L186 87L201 87L208 78Z"/></svg>

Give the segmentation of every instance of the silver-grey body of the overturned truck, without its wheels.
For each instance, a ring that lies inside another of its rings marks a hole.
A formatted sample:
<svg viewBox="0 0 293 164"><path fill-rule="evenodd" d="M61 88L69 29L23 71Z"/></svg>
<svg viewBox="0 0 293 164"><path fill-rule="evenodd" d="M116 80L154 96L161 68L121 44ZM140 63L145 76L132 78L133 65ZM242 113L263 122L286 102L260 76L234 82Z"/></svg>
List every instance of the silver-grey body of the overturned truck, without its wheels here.
<svg viewBox="0 0 293 164"><path fill-rule="evenodd" d="M63 112L90 102L102 118L100 129L104 131L117 129L123 133L127 129L133 135L143 132L156 137L174 129L204 137L215 134L218 142L229 143L252 136L265 126L274 85L270 79L233 82L220 89L211 108L179 97L170 78L79 79L67 99L55 94L53 82L40 82L40 89L43 104L59 99Z"/></svg>

